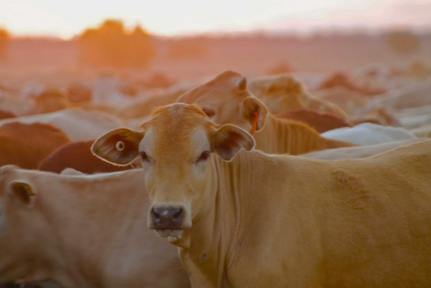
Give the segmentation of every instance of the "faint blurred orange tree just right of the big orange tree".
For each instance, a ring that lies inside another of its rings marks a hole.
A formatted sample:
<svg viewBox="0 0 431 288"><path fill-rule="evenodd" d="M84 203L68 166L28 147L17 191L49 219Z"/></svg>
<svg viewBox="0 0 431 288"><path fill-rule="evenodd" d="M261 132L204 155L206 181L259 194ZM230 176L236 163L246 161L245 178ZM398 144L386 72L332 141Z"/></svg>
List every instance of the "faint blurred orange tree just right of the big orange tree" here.
<svg viewBox="0 0 431 288"><path fill-rule="evenodd" d="M180 58L202 58L208 54L207 41L204 38L178 39L171 43L168 57Z"/></svg>

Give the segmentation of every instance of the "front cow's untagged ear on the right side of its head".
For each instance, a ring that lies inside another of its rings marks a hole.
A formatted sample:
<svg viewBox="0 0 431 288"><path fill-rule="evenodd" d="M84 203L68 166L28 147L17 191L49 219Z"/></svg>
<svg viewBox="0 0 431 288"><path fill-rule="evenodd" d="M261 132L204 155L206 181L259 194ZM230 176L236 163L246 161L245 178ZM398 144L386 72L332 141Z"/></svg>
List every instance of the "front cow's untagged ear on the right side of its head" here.
<svg viewBox="0 0 431 288"><path fill-rule="evenodd" d="M211 138L211 152L217 153L223 160L229 161L241 149L250 151L254 147L254 138L242 128L225 124L214 131Z"/></svg>

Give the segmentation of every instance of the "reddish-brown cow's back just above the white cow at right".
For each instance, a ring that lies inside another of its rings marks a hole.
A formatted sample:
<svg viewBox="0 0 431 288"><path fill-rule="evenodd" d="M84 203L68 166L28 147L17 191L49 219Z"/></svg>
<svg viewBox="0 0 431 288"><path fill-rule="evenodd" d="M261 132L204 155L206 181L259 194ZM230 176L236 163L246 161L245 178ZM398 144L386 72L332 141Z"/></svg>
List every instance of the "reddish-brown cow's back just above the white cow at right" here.
<svg viewBox="0 0 431 288"><path fill-rule="evenodd" d="M276 116L304 122L319 133L340 127L353 126L353 124L331 113L318 112L306 108L287 111Z"/></svg>

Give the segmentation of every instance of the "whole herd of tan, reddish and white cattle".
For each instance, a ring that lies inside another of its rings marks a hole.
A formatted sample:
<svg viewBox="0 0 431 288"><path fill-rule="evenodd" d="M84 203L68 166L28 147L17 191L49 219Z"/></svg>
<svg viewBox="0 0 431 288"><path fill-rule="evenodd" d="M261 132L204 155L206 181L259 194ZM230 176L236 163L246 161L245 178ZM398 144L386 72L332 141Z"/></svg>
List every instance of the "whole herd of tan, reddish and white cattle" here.
<svg viewBox="0 0 431 288"><path fill-rule="evenodd" d="M0 88L0 287L431 287L410 72Z"/></svg>

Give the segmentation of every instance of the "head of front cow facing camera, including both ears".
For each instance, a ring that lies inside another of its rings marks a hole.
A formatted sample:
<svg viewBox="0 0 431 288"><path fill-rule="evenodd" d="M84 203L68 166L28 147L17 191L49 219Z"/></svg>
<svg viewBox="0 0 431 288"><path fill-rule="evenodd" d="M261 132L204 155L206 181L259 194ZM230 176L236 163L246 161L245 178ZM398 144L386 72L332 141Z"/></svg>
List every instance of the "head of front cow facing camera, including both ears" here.
<svg viewBox="0 0 431 288"><path fill-rule="evenodd" d="M112 130L91 150L116 165L139 156L151 201L148 227L160 236L178 237L212 203L211 153L229 161L241 148L251 150L254 140L239 127L216 126L200 108L183 103L157 109L141 128Z"/></svg>

